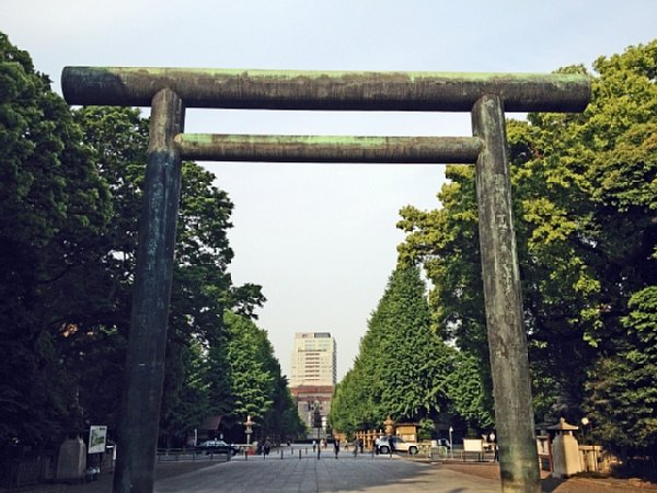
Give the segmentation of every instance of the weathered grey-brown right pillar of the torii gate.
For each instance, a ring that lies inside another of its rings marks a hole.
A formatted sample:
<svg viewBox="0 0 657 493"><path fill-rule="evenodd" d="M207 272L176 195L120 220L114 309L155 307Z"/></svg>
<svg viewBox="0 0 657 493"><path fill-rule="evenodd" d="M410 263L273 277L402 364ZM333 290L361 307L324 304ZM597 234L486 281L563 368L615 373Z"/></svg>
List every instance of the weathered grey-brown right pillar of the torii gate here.
<svg viewBox="0 0 657 493"><path fill-rule="evenodd" d="M485 141L475 167L476 198L502 490L540 493L502 100L477 101L472 127Z"/></svg>

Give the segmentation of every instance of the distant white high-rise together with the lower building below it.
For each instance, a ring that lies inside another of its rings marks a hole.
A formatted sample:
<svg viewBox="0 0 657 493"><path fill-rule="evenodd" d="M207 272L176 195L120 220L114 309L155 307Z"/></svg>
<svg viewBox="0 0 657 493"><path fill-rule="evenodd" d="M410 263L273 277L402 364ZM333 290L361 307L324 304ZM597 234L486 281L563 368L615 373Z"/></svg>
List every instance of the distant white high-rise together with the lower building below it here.
<svg viewBox="0 0 657 493"><path fill-rule="evenodd" d="M297 401L299 416L308 426L308 438L325 438L337 375L336 360L336 344L330 332L295 334L290 392ZM319 429L314 426L315 410L322 423Z"/></svg>

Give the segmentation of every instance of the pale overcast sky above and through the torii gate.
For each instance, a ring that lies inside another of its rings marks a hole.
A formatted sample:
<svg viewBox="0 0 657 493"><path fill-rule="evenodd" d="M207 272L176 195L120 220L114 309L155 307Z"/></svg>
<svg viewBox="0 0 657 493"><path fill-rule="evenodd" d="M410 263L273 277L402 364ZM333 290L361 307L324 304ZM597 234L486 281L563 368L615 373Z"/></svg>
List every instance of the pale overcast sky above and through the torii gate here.
<svg viewBox="0 0 657 493"><path fill-rule="evenodd" d="M0 0L0 31L59 91L65 66L550 72L657 37L655 0ZM512 116L512 115L509 115ZM186 131L471 135L463 114L189 111ZM331 332L349 369L396 261L406 204L441 165L205 163L235 205L235 284L289 374L295 332Z"/></svg>

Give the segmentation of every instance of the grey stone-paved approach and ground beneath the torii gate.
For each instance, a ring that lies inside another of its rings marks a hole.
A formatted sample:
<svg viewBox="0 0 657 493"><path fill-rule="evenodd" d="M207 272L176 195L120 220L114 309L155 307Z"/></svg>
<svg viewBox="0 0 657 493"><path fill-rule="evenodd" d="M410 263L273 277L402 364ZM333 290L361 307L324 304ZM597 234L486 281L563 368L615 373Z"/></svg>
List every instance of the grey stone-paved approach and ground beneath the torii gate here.
<svg viewBox="0 0 657 493"><path fill-rule="evenodd" d="M499 469L494 463L436 463L407 457L342 451L336 460L328 450L321 460L313 455L274 451L263 457L238 456L230 462L160 463L155 468L157 493L307 493L307 492L499 492ZM644 492L625 481L574 478L544 479L543 492L619 493ZM3 491L3 490L0 490ZM82 484L45 484L10 490L12 493L112 493L112 475ZM653 490L654 491L654 490Z"/></svg>

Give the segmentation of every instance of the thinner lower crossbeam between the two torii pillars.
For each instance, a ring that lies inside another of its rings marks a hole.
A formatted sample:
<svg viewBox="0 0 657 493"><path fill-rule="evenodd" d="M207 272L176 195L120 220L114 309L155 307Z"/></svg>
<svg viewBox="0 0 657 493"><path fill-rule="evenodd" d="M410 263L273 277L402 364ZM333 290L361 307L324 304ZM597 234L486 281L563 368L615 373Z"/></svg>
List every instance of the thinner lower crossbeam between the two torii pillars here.
<svg viewBox="0 0 657 493"><path fill-rule="evenodd" d="M474 163L474 137L342 137L181 134L183 159L263 162Z"/></svg>

